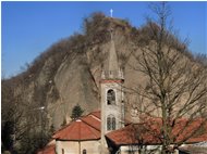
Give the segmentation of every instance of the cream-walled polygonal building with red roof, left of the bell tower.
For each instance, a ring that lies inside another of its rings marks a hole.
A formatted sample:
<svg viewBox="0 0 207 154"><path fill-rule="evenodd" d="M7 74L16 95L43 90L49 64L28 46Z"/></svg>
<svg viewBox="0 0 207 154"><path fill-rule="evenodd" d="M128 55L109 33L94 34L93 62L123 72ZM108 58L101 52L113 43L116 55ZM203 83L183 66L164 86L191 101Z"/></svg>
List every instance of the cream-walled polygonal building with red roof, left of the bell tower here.
<svg viewBox="0 0 207 154"><path fill-rule="evenodd" d="M100 115L97 112L81 117L57 131L57 154L100 153Z"/></svg>

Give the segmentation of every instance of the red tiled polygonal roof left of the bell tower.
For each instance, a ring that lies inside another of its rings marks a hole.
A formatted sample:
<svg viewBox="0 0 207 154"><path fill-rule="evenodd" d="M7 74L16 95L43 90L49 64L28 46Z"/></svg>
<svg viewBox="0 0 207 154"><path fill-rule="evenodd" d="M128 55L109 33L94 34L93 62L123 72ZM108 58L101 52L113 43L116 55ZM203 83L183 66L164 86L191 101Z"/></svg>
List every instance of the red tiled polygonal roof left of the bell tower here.
<svg viewBox="0 0 207 154"><path fill-rule="evenodd" d="M100 119L93 114L98 116L96 112L83 116L57 131L52 138L66 141L99 140Z"/></svg>

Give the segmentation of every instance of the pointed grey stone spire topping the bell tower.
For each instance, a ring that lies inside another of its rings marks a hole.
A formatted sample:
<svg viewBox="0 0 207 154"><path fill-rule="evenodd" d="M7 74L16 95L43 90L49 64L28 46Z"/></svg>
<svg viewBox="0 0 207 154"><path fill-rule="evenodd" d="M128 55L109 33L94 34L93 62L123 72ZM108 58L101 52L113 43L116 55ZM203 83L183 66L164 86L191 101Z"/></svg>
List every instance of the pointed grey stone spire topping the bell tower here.
<svg viewBox="0 0 207 154"><path fill-rule="evenodd" d="M110 40L110 48L108 52L108 63L102 73L102 78L104 79L123 79L123 74L119 67L112 29L110 30L110 35L111 35L111 40Z"/></svg>

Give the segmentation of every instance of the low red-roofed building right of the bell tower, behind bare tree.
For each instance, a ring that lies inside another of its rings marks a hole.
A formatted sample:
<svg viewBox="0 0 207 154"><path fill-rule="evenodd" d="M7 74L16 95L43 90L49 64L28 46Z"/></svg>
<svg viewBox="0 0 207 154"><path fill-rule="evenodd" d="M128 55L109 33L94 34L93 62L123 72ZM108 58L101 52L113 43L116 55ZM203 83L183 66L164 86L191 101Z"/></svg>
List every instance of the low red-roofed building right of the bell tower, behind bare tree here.
<svg viewBox="0 0 207 154"><path fill-rule="evenodd" d="M119 154L129 154L130 152L133 152L138 154L139 151L153 151L154 154L159 154L162 140L159 138L161 137L160 126L162 125L160 121L159 118L150 120L146 118L145 123L130 124L122 129L107 133L106 140L111 153L119 152ZM200 119L195 119L195 121L183 129L186 126L186 123L187 119L179 119L173 127L172 134L176 138L174 138L174 144L172 144L172 146L176 145L176 143L185 139L188 134L192 134L203 121ZM204 141L207 141L206 131L195 137L191 136L185 141L185 144L175 150L174 154L180 154L184 150L193 149L192 145ZM207 150L206 145L203 147L206 147Z"/></svg>

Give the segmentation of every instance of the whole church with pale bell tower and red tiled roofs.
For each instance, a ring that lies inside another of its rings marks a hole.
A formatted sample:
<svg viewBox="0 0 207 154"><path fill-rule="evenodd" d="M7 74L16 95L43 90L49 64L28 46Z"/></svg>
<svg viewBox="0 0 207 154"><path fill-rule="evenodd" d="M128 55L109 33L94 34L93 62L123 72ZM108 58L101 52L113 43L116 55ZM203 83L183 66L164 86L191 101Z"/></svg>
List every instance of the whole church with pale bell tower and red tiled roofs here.
<svg viewBox="0 0 207 154"><path fill-rule="evenodd" d="M160 153L160 141L157 138L142 131L142 124L134 125L125 119L124 74L119 66L112 29L110 34L108 61L99 81L100 111L82 116L56 131L50 143L38 154L138 154L141 145L147 151L155 150L154 154ZM159 131L159 128L155 127L155 131ZM207 141L206 134L191 138L187 143L203 141ZM180 152L178 150L173 153Z"/></svg>

